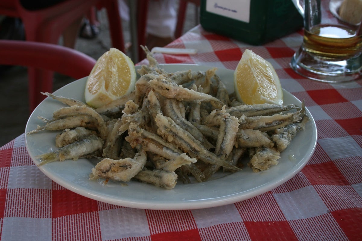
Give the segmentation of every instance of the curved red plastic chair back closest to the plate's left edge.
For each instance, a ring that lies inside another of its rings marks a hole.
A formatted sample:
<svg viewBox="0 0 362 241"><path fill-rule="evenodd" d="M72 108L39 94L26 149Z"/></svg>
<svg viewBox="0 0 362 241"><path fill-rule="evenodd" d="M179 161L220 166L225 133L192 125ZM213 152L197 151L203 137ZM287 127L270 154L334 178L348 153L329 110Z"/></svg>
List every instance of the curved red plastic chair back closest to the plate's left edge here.
<svg viewBox="0 0 362 241"><path fill-rule="evenodd" d="M96 63L92 57L72 48L18 40L0 40L0 56L0 64L51 70L75 79L88 76ZM29 78L30 112L39 104L40 92L53 92L49 85L32 81Z"/></svg>

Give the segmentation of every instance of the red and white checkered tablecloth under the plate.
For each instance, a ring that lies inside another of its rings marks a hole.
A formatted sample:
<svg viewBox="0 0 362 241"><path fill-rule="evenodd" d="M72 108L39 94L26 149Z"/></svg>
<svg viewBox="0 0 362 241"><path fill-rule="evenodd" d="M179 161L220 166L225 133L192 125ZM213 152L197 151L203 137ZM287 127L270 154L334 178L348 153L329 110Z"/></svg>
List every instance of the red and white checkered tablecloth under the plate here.
<svg viewBox="0 0 362 241"><path fill-rule="evenodd" d="M159 63L235 69L253 50L315 119L318 142L285 184L231 205L159 211L110 205L75 194L31 161L24 134L0 148L0 238L9 240L362 240L362 81L328 84L289 67L302 32L249 46L195 27L169 45L195 55L156 54Z"/></svg>

